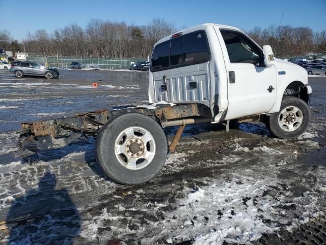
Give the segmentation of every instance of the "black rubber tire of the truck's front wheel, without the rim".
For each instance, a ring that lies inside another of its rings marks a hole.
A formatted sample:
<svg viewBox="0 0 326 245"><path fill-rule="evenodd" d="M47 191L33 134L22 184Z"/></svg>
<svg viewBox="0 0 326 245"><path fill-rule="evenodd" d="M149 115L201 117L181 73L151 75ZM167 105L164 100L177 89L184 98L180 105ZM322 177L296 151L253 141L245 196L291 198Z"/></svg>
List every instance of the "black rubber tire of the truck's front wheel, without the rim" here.
<svg viewBox="0 0 326 245"><path fill-rule="evenodd" d="M285 108L291 106L295 106L302 111L303 119L300 126L294 129L294 131L288 132L281 128L279 125L279 120L281 117L281 112ZM266 127L271 134L278 138L293 139L302 135L306 131L307 127L309 126L310 116L310 109L306 102L297 97L284 96L280 111L266 118Z"/></svg>

